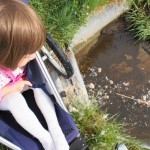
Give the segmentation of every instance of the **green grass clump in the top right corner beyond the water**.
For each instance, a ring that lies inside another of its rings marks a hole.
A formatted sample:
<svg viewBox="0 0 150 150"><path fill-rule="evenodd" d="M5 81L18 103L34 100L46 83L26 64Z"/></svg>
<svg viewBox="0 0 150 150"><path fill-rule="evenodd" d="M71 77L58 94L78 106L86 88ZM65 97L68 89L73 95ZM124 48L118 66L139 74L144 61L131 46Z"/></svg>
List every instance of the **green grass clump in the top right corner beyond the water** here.
<svg viewBox="0 0 150 150"><path fill-rule="evenodd" d="M128 30L137 41L150 41L150 0L132 0L132 8L126 13Z"/></svg>

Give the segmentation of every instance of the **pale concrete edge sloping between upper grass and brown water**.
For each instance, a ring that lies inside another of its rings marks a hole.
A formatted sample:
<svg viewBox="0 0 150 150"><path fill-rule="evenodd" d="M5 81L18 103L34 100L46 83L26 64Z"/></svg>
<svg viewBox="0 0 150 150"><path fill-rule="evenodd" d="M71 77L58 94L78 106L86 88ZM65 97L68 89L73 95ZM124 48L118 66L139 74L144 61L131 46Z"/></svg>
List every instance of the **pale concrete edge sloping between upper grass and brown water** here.
<svg viewBox="0 0 150 150"><path fill-rule="evenodd" d="M104 6L103 9L91 14L87 23L79 28L76 35L71 41L70 47L74 53L78 53L83 49L84 44L97 32L100 32L106 25L117 19L120 15L129 9L127 3L110 4ZM78 46L82 45L82 46ZM81 48L80 48L81 47Z"/></svg>

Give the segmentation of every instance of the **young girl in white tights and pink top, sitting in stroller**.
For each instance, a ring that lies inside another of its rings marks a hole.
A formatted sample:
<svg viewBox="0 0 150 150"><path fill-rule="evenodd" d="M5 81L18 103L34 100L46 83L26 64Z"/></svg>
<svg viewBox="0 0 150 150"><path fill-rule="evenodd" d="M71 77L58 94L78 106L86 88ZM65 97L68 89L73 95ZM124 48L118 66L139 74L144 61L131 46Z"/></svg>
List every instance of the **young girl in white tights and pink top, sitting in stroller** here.
<svg viewBox="0 0 150 150"><path fill-rule="evenodd" d="M0 0L0 110L10 111L16 121L36 137L45 150L68 150L50 98L32 88L38 107L48 125L45 130L28 107L22 91L27 80L27 63L45 42L45 30L38 15L19 0Z"/></svg>

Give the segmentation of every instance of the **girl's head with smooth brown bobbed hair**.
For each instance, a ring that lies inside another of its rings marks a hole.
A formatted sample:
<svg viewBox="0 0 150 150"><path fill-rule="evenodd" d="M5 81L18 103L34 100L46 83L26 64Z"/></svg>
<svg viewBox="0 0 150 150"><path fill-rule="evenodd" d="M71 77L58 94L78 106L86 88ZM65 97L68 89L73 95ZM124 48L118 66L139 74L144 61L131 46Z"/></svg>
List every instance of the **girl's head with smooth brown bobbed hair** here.
<svg viewBox="0 0 150 150"><path fill-rule="evenodd" d="M20 0L0 0L0 66L15 69L39 50L45 29L35 11Z"/></svg>

